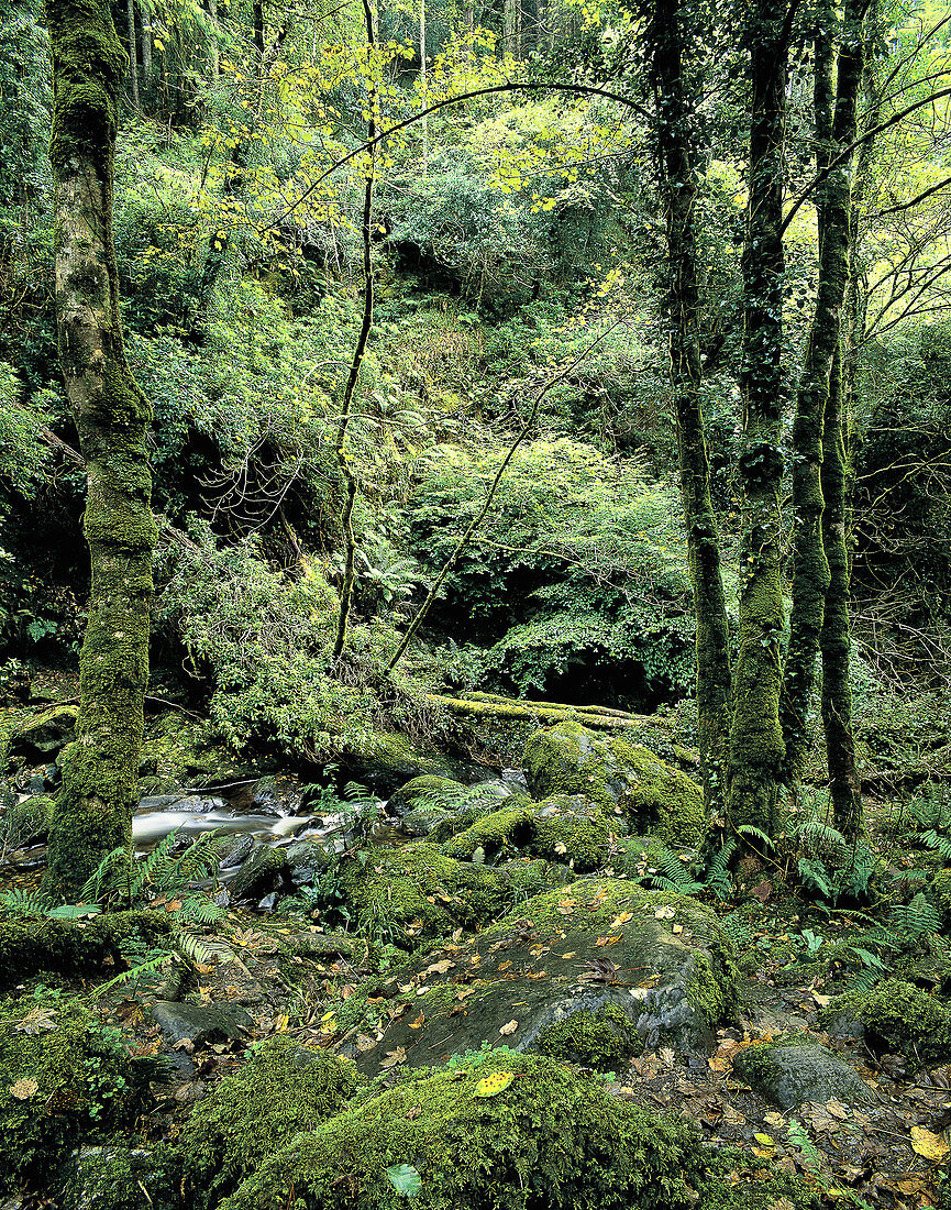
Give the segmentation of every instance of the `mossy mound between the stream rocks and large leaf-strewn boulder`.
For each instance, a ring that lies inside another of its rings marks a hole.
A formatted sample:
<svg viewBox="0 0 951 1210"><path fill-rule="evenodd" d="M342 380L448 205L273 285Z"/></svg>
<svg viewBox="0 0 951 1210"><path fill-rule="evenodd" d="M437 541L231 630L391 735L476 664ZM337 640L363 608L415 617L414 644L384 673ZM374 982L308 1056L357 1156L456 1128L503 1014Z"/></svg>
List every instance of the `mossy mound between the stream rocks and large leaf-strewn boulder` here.
<svg viewBox="0 0 951 1210"><path fill-rule="evenodd" d="M340 870L340 891L361 928L413 947L420 940L492 920L507 899L495 870L455 862L434 845L369 849Z"/></svg>

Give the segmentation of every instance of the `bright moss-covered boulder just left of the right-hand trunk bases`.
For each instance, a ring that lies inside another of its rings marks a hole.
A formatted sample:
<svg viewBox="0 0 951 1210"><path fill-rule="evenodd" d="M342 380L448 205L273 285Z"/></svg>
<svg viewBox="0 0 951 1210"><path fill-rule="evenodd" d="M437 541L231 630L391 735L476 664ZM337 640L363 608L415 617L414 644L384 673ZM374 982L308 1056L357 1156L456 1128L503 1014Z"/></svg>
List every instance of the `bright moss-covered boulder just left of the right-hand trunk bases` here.
<svg viewBox="0 0 951 1210"><path fill-rule="evenodd" d="M696 845L703 834L699 785L622 736L559 722L529 738L524 765L536 800L583 794L604 811L627 816L639 830L650 828L669 845Z"/></svg>

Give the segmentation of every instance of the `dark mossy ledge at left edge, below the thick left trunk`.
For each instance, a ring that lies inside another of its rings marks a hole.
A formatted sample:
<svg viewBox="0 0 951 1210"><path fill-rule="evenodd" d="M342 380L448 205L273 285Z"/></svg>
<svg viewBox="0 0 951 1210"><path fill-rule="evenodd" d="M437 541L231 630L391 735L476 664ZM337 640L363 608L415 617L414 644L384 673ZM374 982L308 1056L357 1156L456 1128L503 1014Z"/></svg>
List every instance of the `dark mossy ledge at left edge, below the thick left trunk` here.
<svg viewBox="0 0 951 1210"><path fill-rule="evenodd" d="M88 978L123 969L122 946L168 937L166 912L120 911L86 921L0 920L0 992L41 972Z"/></svg>

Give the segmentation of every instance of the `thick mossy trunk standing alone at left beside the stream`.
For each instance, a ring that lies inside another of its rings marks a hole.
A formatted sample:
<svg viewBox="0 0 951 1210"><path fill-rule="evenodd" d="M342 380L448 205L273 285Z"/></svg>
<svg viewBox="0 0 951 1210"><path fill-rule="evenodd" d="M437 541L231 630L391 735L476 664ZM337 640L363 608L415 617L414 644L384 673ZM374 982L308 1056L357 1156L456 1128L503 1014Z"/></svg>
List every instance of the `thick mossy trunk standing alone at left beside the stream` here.
<svg viewBox="0 0 951 1210"><path fill-rule="evenodd" d="M149 679L155 546L145 434L126 363L113 242L113 154L127 58L106 0L48 0L56 310L65 390L86 459L92 559L76 741L67 749L47 878L70 897L131 846Z"/></svg>

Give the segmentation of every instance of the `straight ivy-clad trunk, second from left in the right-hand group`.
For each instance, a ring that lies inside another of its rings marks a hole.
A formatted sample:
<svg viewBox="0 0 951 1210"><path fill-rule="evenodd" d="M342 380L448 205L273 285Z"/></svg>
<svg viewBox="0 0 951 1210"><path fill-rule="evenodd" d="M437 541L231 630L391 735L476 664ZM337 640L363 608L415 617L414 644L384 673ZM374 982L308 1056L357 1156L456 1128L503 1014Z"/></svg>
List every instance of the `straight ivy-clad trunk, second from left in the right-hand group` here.
<svg viewBox="0 0 951 1210"><path fill-rule="evenodd" d="M789 31L785 5L754 0L749 201L743 249L743 542L726 802L733 828L776 830L785 744L779 725L783 476L783 131Z"/></svg>

